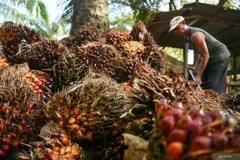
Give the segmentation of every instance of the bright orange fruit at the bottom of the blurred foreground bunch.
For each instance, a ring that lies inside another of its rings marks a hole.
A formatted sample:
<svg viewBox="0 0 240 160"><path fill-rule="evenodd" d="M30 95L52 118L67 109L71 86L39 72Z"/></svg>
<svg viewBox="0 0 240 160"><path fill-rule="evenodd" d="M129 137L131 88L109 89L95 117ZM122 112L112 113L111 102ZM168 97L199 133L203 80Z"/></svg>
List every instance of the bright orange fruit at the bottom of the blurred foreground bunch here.
<svg viewBox="0 0 240 160"><path fill-rule="evenodd" d="M166 158L168 160L179 160L184 153L184 144L172 142L166 148Z"/></svg>

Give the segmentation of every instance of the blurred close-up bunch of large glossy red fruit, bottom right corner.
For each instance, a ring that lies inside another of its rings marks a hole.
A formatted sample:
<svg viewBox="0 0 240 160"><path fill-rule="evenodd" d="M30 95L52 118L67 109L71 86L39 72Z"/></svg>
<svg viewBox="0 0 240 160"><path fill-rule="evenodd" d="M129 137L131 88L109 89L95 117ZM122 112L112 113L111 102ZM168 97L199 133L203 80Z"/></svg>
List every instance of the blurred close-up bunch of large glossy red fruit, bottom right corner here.
<svg viewBox="0 0 240 160"><path fill-rule="evenodd" d="M239 126L221 111L160 99L155 103L154 118L151 159L211 159L215 152L240 150Z"/></svg>

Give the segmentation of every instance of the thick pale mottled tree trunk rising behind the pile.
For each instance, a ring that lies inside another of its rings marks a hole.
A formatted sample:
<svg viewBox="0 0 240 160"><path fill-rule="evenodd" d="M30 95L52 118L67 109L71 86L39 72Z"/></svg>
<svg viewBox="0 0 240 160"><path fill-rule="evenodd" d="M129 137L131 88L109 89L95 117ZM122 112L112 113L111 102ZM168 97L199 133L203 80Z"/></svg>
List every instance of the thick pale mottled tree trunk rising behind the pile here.
<svg viewBox="0 0 240 160"><path fill-rule="evenodd" d="M73 0L71 35L82 25L92 25L100 31L109 28L107 0Z"/></svg>

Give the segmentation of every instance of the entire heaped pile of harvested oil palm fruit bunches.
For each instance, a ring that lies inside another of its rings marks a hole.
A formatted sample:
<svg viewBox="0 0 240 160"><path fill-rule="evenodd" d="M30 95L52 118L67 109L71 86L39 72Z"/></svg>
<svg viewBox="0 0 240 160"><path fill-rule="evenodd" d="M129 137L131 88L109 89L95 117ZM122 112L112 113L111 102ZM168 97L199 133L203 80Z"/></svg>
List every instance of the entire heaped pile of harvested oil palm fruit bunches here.
<svg viewBox="0 0 240 160"><path fill-rule="evenodd" d="M6 22L0 42L0 159L123 160L124 133L149 141L149 159L239 148L239 94L198 92L166 69L142 22L129 32L83 25L61 40ZM205 148L192 147L199 136Z"/></svg>

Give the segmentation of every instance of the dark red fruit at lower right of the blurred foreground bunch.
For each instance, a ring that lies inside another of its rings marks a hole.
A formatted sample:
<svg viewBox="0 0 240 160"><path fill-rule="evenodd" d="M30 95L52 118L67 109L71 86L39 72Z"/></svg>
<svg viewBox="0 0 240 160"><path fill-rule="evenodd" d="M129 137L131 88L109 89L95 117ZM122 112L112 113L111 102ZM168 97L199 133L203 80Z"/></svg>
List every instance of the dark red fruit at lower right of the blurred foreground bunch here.
<svg viewBox="0 0 240 160"><path fill-rule="evenodd" d="M223 150L227 147L228 137L221 133L213 133L210 138L212 138L212 147L217 150Z"/></svg>

